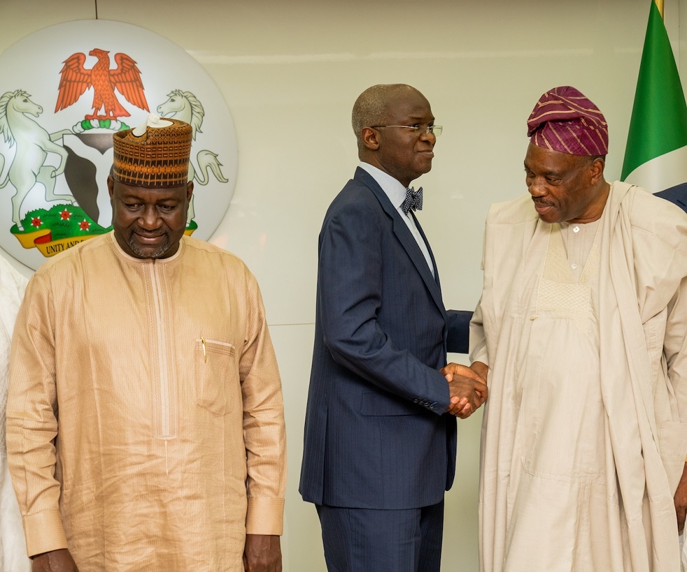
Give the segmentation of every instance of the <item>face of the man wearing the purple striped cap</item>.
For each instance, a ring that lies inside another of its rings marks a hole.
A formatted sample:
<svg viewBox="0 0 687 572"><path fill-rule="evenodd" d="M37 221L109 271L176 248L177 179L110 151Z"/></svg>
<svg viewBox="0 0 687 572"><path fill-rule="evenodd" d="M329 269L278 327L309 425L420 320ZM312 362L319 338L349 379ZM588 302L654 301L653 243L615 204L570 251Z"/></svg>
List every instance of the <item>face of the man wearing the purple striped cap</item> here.
<svg viewBox="0 0 687 572"><path fill-rule="evenodd" d="M533 144L525 157L525 182L544 222L593 222L600 218L609 185L604 161Z"/></svg>

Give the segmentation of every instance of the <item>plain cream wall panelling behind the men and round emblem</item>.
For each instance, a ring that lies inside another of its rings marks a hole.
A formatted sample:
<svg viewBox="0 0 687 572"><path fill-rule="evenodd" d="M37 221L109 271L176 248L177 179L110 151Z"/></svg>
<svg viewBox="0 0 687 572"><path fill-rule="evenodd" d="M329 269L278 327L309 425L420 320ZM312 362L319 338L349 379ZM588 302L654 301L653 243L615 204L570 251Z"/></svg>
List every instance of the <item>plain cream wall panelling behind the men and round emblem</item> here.
<svg viewBox="0 0 687 572"><path fill-rule="evenodd" d="M413 84L431 102L444 135L433 170L421 179L420 221L447 307L473 308L482 280L484 216L490 203L526 192L525 122L543 91L572 84L598 104L610 126L607 179L618 178L649 0L97 4L98 18L146 27L186 49L214 78L234 117L238 181L212 240L240 255L258 277L280 361L289 432L284 570L322 571L319 524L314 508L300 500L297 482L317 234L328 203L357 163L352 103L381 82ZM95 17L93 0L0 0L0 8L0 51L48 25ZM682 54L685 84L687 0L666 0L666 19L676 55ZM0 70L0 89L1 78ZM0 200L8 201L3 192ZM472 572L480 415L460 422L459 431L444 569Z"/></svg>

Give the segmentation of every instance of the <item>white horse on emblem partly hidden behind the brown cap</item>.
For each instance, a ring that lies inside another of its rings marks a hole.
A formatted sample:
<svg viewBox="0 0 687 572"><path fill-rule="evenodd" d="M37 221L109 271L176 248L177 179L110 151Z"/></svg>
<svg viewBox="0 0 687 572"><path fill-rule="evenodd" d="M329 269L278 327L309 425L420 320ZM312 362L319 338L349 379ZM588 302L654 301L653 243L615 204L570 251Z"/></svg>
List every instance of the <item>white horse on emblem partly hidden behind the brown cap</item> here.
<svg viewBox="0 0 687 572"><path fill-rule="evenodd" d="M192 137L195 141L196 133L203 133L201 131L203 116L205 115L203 104L201 104L193 93L190 91L181 91L181 89L170 91L167 97L168 100L166 102L157 106L157 113L161 115L161 117L173 117L174 119L179 119L179 121L190 124L192 127ZM212 171L212 174L214 174L215 178L221 183L227 183L227 181L229 181L229 179L226 179L222 174L222 163L218 161L216 153L203 149L196 155L196 161L198 162L197 170L193 166L193 161L189 161L188 163L189 181L195 181L199 185L207 185L210 181L208 170ZM188 205L187 226L194 216L193 196L191 196L191 202Z"/></svg>

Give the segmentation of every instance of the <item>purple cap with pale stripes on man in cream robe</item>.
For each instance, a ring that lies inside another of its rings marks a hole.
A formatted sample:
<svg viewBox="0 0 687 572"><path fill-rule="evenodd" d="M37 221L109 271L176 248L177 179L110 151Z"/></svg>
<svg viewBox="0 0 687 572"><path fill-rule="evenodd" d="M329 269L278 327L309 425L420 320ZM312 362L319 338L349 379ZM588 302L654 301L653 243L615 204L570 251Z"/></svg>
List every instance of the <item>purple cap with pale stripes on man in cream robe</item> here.
<svg viewBox="0 0 687 572"><path fill-rule="evenodd" d="M574 87L544 93L527 120L530 143L569 155L606 155L608 125L599 108Z"/></svg>

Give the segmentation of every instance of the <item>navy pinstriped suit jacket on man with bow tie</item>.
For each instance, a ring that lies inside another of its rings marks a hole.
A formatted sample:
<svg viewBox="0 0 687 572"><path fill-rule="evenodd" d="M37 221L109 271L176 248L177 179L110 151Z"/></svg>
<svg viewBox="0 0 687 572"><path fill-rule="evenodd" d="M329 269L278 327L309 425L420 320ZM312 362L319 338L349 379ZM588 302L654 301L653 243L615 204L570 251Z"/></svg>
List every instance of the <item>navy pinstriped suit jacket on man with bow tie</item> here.
<svg viewBox="0 0 687 572"><path fill-rule="evenodd" d="M436 504L451 486L455 417L443 413L449 388L438 370L447 341L467 352L471 312L444 310L431 260L436 279L394 205L358 168L319 236L304 500L405 509Z"/></svg>

